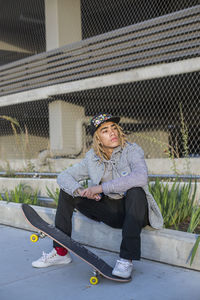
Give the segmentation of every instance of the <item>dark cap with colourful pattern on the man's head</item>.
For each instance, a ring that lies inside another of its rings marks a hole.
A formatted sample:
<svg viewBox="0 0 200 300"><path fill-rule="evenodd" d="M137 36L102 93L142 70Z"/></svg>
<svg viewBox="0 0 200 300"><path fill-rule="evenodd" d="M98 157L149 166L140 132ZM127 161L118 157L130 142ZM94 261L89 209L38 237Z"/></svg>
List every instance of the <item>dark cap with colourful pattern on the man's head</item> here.
<svg viewBox="0 0 200 300"><path fill-rule="evenodd" d="M91 135L93 136L95 131L101 126L101 124L105 122L114 122L114 123L119 123L120 117L114 117L108 113L100 113L96 116L94 116L90 122L90 132Z"/></svg>

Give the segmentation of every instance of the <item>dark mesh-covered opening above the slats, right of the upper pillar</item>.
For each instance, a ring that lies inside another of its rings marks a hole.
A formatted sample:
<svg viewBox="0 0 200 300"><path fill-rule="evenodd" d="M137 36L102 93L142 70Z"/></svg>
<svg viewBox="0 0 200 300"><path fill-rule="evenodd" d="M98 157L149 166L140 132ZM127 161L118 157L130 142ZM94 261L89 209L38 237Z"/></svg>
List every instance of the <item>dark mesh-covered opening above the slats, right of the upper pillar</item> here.
<svg viewBox="0 0 200 300"><path fill-rule="evenodd" d="M154 19L198 4L198 0L84 0L81 2L83 38Z"/></svg>

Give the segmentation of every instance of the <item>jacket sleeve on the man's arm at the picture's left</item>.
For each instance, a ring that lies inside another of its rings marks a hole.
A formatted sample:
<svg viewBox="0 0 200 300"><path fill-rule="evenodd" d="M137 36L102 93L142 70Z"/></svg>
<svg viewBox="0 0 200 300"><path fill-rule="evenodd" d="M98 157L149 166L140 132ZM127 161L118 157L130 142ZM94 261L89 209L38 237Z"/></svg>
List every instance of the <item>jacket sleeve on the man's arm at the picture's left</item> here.
<svg viewBox="0 0 200 300"><path fill-rule="evenodd" d="M57 183L64 192L71 196L77 196L74 192L81 187L79 182L88 179L88 177L88 155L86 154L79 163L61 172L57 177Z"/></svg>

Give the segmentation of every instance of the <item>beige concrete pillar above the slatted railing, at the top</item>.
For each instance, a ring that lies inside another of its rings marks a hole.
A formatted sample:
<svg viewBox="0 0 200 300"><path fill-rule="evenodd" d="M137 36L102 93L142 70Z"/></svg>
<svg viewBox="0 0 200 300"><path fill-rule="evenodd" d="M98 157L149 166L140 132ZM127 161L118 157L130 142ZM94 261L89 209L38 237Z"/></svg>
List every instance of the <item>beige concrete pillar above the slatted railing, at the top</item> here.
<svg viewBox="0 0 200 300"><path fill-rule="evenodd" d="M46 50L81 40L80 0L45 0Z"/></svg>

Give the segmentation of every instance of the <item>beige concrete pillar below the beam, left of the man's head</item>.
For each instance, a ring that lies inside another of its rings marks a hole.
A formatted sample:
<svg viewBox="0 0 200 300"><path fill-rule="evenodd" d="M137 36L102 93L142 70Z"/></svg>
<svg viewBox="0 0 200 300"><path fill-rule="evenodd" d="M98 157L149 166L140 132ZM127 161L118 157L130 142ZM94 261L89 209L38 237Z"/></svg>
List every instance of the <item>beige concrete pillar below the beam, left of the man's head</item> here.
<svg viewBox="0 0 200 300"><path fill-rule="evenodd" d="M54 155L77 155L83 149L84 108L54 101L49 104L50 151Z"/></svg>

